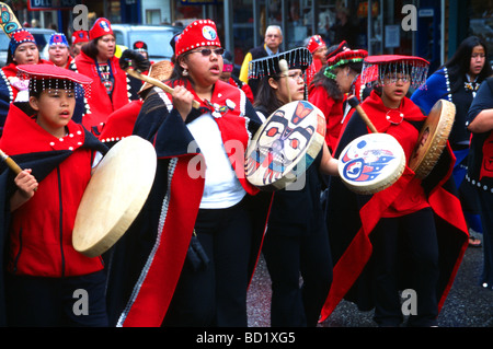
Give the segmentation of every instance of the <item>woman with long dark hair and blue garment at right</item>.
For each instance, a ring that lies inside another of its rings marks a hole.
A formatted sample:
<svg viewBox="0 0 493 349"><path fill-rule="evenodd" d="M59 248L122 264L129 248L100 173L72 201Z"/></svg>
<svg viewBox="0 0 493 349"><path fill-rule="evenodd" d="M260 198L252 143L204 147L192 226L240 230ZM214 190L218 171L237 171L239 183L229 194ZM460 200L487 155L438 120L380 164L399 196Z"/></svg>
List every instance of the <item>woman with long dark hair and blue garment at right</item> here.
<svg viewBox="0 0 493 349"><path fill-rule="evenodd" d="M469 183L463 181L471 138L466 124L469 107L480 84L493 74L488 57L488 47L481 38L477 36L466 38L450 60L427 79L424 88L419 89L411 96L411 100L423 108L425 114L429 113L439 98L456 105L456 119L449 141L457 159L454 166L454 179L470 228L469 246L471 247L481 247L482 244L478 237L479 233L482 233L482 226L477 195Z"/></svg>

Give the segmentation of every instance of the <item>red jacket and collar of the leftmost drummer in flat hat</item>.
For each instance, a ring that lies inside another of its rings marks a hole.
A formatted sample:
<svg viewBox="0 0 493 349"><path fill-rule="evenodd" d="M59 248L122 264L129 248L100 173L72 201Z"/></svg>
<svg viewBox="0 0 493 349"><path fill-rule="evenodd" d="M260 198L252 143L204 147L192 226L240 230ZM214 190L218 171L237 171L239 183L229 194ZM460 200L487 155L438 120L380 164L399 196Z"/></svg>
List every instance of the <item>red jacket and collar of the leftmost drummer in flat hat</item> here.
<svg viewBox="0 0 493 349"><path fill-rule="evenodd" d="M101 257L85 257L72 246L73 223L91 178L93 151L82 147L87 132L81 125L70 121L68 132L58 139L11 105L0 149L12 156L39 153L38 158L65 151L67 158L42 181L33 172L41 181L36 194L11 214L10 272L59 278L103 269Z"/></svg>

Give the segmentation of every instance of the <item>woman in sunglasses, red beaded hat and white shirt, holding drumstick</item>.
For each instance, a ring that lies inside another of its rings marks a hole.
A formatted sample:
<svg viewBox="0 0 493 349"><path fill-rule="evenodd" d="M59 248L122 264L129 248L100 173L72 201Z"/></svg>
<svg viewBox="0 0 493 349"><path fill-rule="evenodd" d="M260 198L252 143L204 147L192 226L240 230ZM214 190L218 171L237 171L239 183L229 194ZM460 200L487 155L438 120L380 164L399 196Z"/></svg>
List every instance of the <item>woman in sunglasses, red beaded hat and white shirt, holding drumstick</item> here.
<svg viewBox="0 0 493 349"><path fill-rule="evenodd" d="M134 133L154 146L158 170L114 249L108 303L118 326L248 326L270 198L257 200L245 179L261 121L244 92L219 80L222 53L213 21L191 23L175 42L173 92L153 88L142 104Z"/></svg>

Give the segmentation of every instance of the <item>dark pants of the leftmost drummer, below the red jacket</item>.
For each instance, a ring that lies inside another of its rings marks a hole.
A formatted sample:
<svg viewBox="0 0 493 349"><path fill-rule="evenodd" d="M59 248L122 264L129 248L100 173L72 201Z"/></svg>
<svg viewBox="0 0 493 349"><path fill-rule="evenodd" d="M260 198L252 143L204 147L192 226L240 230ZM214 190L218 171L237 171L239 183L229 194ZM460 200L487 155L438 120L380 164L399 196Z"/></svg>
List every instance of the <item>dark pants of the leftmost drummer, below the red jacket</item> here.
<svg viewBox="0 0 493 349"><path fill-rule="evenodd" d="M8 326L107 326L106 275L43 278L7 275Z"/></svg>

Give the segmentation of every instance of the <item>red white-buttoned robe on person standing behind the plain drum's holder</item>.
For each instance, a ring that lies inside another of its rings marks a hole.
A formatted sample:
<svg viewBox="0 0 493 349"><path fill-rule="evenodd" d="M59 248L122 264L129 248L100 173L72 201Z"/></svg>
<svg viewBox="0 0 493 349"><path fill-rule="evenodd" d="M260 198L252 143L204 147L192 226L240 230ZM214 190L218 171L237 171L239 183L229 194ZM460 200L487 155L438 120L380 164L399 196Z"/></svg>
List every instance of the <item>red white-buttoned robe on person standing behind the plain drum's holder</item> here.
<svg viewBox="0 0 493 349"><path fill-rule="evenodd" d="M130 102L129 86L127 84L127 73L119 68L118 58L113 56L110 60L111 70L114 78L113 94L110 98L106 88L101 82L94 59L80 53L76 57L70 69L92 79L91 92L87 97L87 112L82 118L82 125L98 133L107 120L110 114Z"/></svg>

